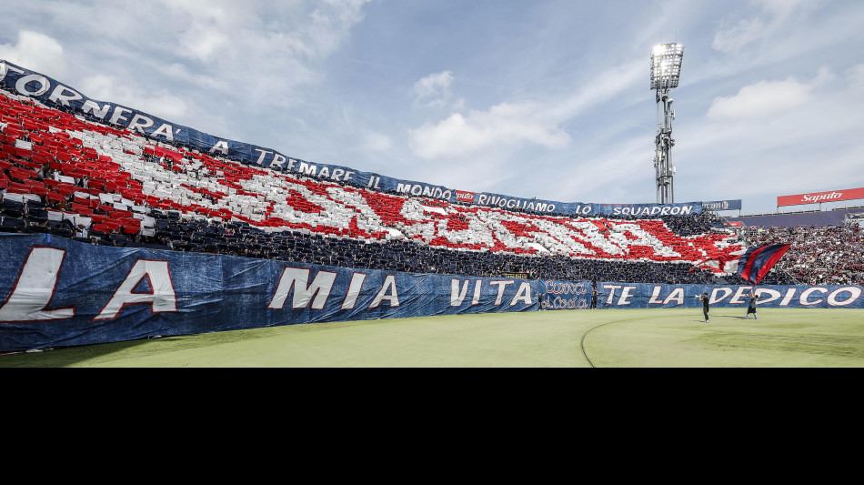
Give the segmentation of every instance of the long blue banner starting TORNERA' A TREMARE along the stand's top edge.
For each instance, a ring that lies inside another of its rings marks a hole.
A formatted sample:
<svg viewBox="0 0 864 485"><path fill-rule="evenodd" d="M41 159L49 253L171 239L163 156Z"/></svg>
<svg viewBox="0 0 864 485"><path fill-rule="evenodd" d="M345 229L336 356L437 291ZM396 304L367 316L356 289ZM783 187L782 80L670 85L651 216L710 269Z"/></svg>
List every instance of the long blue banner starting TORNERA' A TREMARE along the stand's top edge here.
<svg viewBox="0 0 864 485"><path fill-rule="evenodd" d="M282 167L306 177L337 182L350 182L371 190L394 191L397 194L430 197L452 204L465 202L477 206L518 209L537 214L567 216L659 217L698 214L701 202L681 204L586 204L582 202L556 202L536 198L507 197L499 194L465 192L386 177L354 168L313 163L296 157L287 157L273 148L257 147L248 143L208 135L188 126L181 126L134 108L120 106L84 96L55 79L0 60L0 85L15 90L22 96L38 99L46 106L71 108L76 114L95 117L112 126L123 126L141 136L194 148L211 156L228 157L257 167Z"/></svg>

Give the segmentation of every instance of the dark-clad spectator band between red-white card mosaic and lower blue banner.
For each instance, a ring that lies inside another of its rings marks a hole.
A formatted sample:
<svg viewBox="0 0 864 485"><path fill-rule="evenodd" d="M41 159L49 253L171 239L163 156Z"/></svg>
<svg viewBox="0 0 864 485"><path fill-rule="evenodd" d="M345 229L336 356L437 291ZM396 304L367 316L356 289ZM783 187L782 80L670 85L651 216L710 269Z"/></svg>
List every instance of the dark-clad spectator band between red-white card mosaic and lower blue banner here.
<svg viewBox="0 0 864 485"><path fill-rule="evenodd" d="M11 206L16 206L15 204ZM456 251L417 244L411 240L364 241L324 237L297 231L270 231L242 221L221 219L187 220L173 211L151 211L156 217L152 235L134 236L116 231L103 233L74 227L69 220L49 221L45 205L30 201L18 213L0 212L0 217L20 217L23 227L0 230L49 233L80 242L126 248L173 249L245 258L268 258L343 268L381 269L416 273L456 274L501 278L523 274L527 278L562 280L658 282L709 284L708 272L690 271L689 264L650 261L609 261L598 258L568 258L558 255L514 255L489 251ZM7 207L4 204L4 207ZM694 217L692 224L698 224Z"/></svg>

